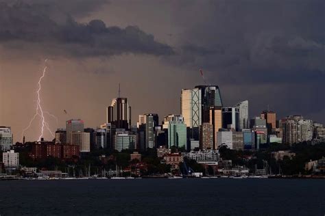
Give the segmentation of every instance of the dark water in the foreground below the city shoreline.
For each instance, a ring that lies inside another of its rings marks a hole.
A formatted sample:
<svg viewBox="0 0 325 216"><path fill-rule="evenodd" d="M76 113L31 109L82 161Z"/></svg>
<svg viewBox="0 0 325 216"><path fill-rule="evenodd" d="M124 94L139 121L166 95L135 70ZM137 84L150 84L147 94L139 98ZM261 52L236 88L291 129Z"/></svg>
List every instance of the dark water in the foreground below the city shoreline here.
<svg viewBox="0 0 325 216"><path fill-rule="evenodd" d="M0 182L0 215L325 215L325 180Z"/></svg>

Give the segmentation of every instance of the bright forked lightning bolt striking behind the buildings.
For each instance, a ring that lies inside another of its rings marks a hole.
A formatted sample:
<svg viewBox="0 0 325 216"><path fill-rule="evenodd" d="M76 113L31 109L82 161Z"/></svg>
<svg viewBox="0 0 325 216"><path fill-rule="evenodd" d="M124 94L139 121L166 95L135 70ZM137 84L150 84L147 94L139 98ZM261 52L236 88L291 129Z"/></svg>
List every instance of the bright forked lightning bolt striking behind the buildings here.
<svg viewBox="0 0 325 216"><path fill-rule="evenodd" d="M45 59L45 63L46 62L47 62L47 59ZM36 91L36 93L37 93L36 111L35 111L33 118L29 121L28 126L25 129L23 129L23 133L21 134L22 140L23 140L23 136L24 136L25 132L32 126L32 123L34 122L34 120L36 120L36 117L39 117L40 121L41 121L40 136L38 137L38 141L40 141L40 139L43 137L45 129L47 129L47 131L49 131L49 133L51 133L52 137L55 137L54 133L51 131L51 129L49 129L49 123L46 122L44 114L47 114L47 115L51 116L52 118L55 118L57 124L58 124L58 118L56 116L54 116L53 114L49 113L48 111L43 110L42 100L40 97L40 92L42 90L41 83L42 83L43 78L45 77L46 72L47 72L47 66L45 65L45 67L43 69L43 74L40 77L40 79L38 80L38 89Z"/></svg>

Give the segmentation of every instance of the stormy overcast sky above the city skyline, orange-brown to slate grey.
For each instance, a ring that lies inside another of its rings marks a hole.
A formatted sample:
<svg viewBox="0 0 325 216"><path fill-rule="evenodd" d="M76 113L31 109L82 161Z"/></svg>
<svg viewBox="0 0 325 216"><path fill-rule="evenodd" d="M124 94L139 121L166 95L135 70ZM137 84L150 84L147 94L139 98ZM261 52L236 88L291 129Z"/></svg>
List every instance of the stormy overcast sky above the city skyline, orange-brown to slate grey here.
<svg viewBox="0 0 325 216"><path fill-rule="evenodd" d="M0 0L0 124L21 139L46 58L52 131L69 118L106 122L118 83L132 124L180 113L182 88L203 84L200 68L226 106L249 100L251 117L269 105L278 118L325 123L324 11L323 0ZM36 120L26 139L39 133Z"/></svg>

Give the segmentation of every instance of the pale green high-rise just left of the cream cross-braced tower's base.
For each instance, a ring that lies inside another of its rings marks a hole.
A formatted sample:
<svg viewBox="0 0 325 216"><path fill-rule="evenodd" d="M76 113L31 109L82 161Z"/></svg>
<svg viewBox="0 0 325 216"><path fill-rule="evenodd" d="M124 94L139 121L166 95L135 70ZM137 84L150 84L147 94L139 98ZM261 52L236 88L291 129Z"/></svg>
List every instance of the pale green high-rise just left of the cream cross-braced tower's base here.
<svg viewBox="0 0 325 216"><path fill-rule="evenodd" d="M186 124L184 124L184 120L182 119L182 116L178 116L178 117L179 117L178 120L171 120L167 124L168 125L168 146L169 148L171 148L171 146L175 146L177 148L185 148L186 150L187 149Z"/></svg>

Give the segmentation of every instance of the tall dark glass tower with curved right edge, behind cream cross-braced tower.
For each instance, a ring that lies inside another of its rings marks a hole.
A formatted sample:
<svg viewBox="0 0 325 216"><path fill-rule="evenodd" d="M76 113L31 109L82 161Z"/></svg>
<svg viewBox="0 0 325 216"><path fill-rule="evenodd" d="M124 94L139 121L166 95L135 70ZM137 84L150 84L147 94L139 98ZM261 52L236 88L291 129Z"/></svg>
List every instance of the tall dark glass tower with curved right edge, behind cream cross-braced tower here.
<svg viewBox="0 0 325 216"><path fill-rule="evenodd" d="M201 90L202 123L210 121L210 107L222 107L222 99L217 85L197 85L195 89Z"/></svg>

